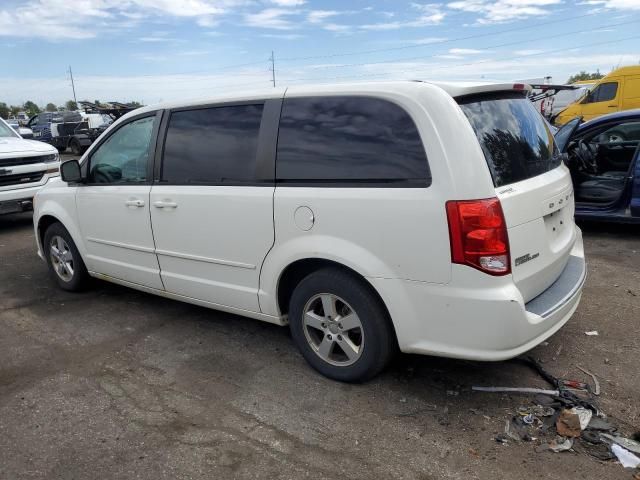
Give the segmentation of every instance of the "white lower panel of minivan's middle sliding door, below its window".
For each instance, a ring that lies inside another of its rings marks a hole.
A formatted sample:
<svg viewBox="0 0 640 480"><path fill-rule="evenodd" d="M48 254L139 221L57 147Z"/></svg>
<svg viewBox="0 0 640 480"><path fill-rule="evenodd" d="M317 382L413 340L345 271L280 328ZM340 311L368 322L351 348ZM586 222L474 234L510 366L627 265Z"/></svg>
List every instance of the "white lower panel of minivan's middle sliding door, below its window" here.
<svg viewBox="0 0 640 480"><path fill-rule="evenodd" d="M260 266L273 245L273 191L154 185L151 220L166 290L259 312Z"/></svg>

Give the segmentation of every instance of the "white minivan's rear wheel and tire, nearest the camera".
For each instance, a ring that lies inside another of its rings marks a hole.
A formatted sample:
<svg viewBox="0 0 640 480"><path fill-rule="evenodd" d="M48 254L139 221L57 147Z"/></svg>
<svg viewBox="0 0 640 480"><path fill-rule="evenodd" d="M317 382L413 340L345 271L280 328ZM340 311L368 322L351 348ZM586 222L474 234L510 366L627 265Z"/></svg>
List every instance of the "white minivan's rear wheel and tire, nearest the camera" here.
<svg viewBox="0 0 640 480"><path fill-rule="evenodd" d="M362 382L378 374L396 350L391 321L372 288L336 268L314 272L289 303L291 335L324 376Z"/></svg>

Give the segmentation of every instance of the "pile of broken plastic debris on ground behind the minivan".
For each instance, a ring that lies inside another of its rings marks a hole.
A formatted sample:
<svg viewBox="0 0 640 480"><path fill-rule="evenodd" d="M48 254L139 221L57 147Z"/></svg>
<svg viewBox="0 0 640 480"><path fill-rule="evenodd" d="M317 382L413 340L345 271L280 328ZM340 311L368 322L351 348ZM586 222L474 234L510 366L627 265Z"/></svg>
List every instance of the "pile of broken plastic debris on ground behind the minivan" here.
<svg viewBox="0 0 640 480"><path fill-rule="evenodd" d="M593 334L597 335L597 332ZM535 442L537 452L574 451L599 461L617 459L625 467L640 468L640 432L635 434L637 440L624 437L607 420L594 397L600 394L600 384L593 373L577 367L591 377L592 387L579 380L557 378L532 358L517 360L535 370L551 389L472 387L476 392L529 394L532 397L532 405L518 407L516 414L505 421L504 431L494 437L496 442L505 446L511 442ZM636 480L640 480L640 475Z"/></svg>

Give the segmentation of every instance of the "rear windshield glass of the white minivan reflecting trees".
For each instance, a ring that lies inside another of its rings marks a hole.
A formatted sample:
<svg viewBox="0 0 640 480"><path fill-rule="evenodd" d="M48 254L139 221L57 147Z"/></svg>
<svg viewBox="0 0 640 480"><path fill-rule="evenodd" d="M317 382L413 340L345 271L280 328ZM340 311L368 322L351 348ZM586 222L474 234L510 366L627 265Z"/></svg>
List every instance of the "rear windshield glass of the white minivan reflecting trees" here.
<svg viewBox="0 0 640 480"><path fill-rule="evenodd" d="M521 93L462 97L458 103L478 137L496 187L560 165L551 131Z"/></svg>

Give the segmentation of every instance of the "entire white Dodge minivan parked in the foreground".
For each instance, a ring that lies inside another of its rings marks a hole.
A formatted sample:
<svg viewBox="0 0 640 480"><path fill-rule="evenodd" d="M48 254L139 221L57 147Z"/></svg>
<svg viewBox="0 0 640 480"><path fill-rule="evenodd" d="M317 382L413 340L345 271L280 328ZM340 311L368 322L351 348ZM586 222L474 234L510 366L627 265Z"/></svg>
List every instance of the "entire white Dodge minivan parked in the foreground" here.
<svg viewBox="0 0 640 480"><path fill-rule="evenodd" d="M273 89L135 110L36 198L88 277L289 325L343 381L397 350L517 356L586 277L569 170L521 84Z"/></svg>

